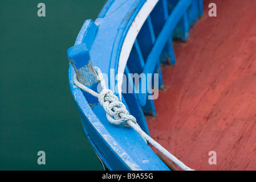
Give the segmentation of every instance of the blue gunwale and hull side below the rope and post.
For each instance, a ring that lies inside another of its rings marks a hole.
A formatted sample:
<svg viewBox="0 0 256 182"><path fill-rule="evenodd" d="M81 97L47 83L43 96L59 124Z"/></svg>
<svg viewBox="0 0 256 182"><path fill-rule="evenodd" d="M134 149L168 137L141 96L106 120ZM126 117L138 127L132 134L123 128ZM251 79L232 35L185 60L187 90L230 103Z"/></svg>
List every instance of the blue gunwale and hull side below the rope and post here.
<svg viewBox="0 0 256 182"><path fill-rule="evenodd" d="M99 104L91 107L81 90L74 85L72 76L75 71L72 66L69 73L71 93L78 105L84 129L109 169L168 170L135 130L109 123Z"/></svg>

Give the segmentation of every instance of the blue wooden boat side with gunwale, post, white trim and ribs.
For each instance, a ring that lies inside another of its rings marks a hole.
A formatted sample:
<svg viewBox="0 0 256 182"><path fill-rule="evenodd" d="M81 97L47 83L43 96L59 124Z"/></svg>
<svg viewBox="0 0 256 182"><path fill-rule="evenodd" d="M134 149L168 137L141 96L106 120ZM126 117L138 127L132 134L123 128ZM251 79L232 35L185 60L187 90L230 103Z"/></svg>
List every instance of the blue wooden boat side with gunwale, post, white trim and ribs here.
<svg viewBox="0 0 256 182"><path fill-rule="evenodd" d="M136 90L135 82L123 82L122 74L158 73L157 84L152 77L141 77L139 84L147 80L164 89L160 64L176 63L173 39L188 40L190 27L202 14L202 0L108 0L95 21L84 22L67 52L68 76L84 131L105 169L170 170L135 130L108 121L97 98L75 85L75 73L83 85L97 92L99 82L88 64L98 67L108 78L108 88L150 135L145 115L156 115L154 93ZM133 92L121 92L124 84L132 85Z"/></svg>

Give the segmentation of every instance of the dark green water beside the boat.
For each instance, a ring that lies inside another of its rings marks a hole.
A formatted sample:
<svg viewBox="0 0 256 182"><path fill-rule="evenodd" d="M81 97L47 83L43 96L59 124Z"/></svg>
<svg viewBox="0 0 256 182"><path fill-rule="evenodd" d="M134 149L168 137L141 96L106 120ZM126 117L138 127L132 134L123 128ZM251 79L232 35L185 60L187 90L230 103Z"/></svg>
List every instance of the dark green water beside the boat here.
<svg viewBox="0 0 256 182"><path fill-rule="evenodd" d="M41 2L45 17L37 14ZM0 1L1 170L103 169L70 92L66 51L104 3Z"/></svg>

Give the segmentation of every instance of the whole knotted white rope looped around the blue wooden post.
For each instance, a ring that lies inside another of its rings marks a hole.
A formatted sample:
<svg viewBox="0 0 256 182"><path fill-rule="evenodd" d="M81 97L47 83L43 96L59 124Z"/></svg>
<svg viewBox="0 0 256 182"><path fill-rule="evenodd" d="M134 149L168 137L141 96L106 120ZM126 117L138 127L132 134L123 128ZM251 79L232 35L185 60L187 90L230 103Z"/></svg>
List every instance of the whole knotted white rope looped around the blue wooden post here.
<svg viewBox="0 0 256 182"><path fill-rule="evenodd" d="M112 90L109 90L105 87L105 80L99 68L94 67L97 72L97 80L101 84L102 91L100 93L94 92L94 90L89 89L87 86L84 86L78 81L76 74L74 75L75 85L80 89L92 94L99 99L99 103L103 106L106 111L107 119L109 122L115 125L124 125L126 127L132 127L140 136L147 140L152 146L156 147L162 154L164 154L167 158L176 163L181 169L185 171L194 171L193 169L187 167L184 163L178 160L175 156L170 154L164 147L162 147L159 143L153 140L149 135L147 135L143 130L141 130L140 126L136 123L136 118L132 115L129 115L128 110L125 105L119 101L119 99L113 94Z"/></svg>

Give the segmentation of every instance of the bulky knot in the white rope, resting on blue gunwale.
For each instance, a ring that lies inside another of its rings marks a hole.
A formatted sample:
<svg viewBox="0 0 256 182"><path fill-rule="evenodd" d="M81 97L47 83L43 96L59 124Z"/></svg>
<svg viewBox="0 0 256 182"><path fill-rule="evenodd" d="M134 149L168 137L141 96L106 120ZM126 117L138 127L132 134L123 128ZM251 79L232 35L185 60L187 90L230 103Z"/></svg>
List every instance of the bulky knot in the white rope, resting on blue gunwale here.
<svg viewBox="0 0 256 182"><path fill-rule="evenodd" d="M125 105L118 100L112 90L104 89L99 93L99 103L106 111L108 121L115 125L129 127L128 120L136 123L136 118L129 115Z"/></svg>

